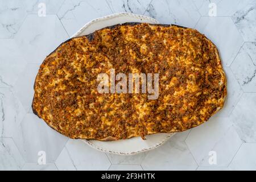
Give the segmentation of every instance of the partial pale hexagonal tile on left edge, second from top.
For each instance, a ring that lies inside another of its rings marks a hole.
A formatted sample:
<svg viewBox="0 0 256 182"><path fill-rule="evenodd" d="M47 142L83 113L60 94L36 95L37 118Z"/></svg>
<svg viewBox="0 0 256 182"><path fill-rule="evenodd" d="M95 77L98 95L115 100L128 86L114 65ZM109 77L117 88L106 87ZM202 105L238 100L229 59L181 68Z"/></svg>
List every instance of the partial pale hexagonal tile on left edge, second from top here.
<svg viewBox="0 0 256 182"><path fill-rule="evenodd" d="M13 39L0 39L0 50L0 87L10 88L27 62Z"/></svg>

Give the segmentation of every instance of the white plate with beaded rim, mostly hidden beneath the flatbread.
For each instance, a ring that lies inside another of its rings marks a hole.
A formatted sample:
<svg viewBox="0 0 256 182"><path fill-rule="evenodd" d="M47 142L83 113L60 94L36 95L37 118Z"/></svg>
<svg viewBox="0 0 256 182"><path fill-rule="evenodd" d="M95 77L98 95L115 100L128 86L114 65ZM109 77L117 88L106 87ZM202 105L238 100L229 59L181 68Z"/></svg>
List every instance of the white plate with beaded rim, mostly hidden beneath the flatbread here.
<svg viewBox="0 0 256 182"><path fill-rule="evenodd" d="M104 16L102 18L94 19L89 23L86 23L84 27L82 27L78 32L76 32L73 37L88 35L96 30L99 30L104 27L113 26L115 24L127 23L127 22L141 22L141 23L159 23L157 20L150 18L148 16L136 15L132 13L117 13L108 16ZM82 140L89 146L96 148L97 150L109 152L113 154L120 155L131 155L137 154L139 152L144 152L148 150L152 150L164 142L171 136L172 134L154 134L147 135L146 140L141 139L141 137L134 137L125 140L115 140L109 142L102 142L98 140Z"/></svg>

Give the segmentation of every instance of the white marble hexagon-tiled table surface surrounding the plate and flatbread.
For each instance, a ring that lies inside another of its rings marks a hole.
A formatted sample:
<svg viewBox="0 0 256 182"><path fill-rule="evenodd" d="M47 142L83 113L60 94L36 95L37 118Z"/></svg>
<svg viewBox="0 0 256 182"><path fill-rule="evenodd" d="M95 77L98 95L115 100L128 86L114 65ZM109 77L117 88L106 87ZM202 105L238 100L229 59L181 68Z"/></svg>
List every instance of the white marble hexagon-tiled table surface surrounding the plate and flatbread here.
<svg viewBox="0 0 256 182"><path fill-rule="evenodd" d="M208 122L131 156L68 139L31 110L44 57L86 22L119 12L196 28L218 47L228 79L224 109ZM255 170L255 33L255 0L0 0L0 169Z"/></svg>

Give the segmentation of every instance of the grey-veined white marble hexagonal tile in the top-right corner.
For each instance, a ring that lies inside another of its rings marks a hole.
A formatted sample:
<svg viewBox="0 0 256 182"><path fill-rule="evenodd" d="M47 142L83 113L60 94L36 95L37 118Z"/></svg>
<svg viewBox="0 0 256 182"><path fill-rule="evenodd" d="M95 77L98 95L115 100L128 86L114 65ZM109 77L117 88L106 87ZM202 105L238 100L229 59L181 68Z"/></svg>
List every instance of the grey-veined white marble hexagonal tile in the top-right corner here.
<svg viewBox="0 0 256 182"><path fill-rule="evenodd" d="M256 41L256 2L245 3L245 7L237 10L232 16L234 24L243 36L245 41Z"/></svg>

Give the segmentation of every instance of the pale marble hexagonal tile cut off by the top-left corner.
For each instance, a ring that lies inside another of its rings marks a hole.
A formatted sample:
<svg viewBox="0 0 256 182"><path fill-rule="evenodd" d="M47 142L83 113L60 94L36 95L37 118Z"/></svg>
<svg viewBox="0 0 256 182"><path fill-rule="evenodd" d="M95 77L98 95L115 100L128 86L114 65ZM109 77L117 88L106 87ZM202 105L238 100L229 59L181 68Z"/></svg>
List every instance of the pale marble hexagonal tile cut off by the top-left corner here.
<svg viewBox="0 0 256 182"><path fill-rule="evenodd" d="M26 16L22 1L0 0L0 38L13 38Z"/></svg>

